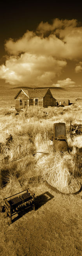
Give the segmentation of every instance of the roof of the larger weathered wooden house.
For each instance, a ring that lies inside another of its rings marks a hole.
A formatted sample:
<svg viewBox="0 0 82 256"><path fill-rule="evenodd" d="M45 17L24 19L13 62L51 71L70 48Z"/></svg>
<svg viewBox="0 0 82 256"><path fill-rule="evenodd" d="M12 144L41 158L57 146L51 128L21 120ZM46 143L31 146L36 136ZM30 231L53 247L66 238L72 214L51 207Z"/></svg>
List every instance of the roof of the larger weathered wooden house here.
<svg viewBox="0 0 82 256"><path fill-rule="evenodd" d="M16 96L14 97L14 99L16 99L16 97L18 96L18 94L21 92L21 90L23 90L23 92L27 95L27 97L29 96L29 98L41 98L44 97L46 92L48 91L49 88L41 88L41 89L20 89L20 91L16 94ZM51 91L50 91L51 92ZM52 94L52 93L51 93ZM52 96L53 97L53 96Z"/></svg>

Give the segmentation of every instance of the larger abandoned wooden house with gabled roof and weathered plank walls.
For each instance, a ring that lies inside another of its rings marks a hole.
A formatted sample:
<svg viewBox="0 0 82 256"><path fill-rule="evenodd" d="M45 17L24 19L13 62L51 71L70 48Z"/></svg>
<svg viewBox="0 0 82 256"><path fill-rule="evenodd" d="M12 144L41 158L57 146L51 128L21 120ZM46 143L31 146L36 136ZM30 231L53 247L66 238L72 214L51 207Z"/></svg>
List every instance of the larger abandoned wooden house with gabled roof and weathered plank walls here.
<svg viewBox="0 0 82 256"><path fill-rule="evenodd" d="M53 98L49 88L20 89L14 99L16 111L27 109L32 105L40 107L56 106L56 99Z"/></svg>

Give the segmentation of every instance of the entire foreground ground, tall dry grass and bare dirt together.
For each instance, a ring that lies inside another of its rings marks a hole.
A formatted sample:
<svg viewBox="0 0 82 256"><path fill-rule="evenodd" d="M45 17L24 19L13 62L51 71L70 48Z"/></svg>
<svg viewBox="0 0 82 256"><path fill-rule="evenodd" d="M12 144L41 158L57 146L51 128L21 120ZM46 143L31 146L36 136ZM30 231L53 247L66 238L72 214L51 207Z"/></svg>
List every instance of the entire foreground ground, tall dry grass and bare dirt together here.
<svg viewBox="0 0 82 256"><path fill-rule="evenodd" d="M69 130L70 121L82 124L81 106L29 107L27 113L15 114L14 107L0 108L0 203L29 187L36 211L16 216L10 226L0 213L0 255L80 256L82 192L57 194L44 181L65 193L79 189L81 167L75 165L74 154L82 147L82 134L70 136ZM66 124L70 151L64 154L53 151L55 122Z"/></svg>

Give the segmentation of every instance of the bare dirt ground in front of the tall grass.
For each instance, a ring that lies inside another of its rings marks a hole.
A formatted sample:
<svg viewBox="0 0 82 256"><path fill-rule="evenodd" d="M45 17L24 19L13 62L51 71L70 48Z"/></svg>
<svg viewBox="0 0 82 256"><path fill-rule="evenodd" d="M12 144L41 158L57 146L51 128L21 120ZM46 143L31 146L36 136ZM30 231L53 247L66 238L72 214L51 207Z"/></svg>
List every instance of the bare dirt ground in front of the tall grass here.
<svg viewBox="0 0 82 256"><path fill-rule="evenodd" d="M36 211L16 217L10 226L0 214L0 256L80 256L82 192L57 194L45 183L30 189Z"/></svg>

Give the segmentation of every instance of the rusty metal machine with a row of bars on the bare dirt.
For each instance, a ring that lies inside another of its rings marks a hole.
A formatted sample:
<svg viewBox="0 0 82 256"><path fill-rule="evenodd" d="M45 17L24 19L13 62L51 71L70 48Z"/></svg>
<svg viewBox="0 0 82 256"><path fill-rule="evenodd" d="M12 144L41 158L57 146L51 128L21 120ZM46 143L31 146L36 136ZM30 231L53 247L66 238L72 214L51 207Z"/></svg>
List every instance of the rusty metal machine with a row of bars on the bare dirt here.
<svg viewBox="0 0 82 256"><path fill-rule="evenodd" d="M34 195L35 194L28 188L17 194L9 196L8 198L4 198L5 205L0 207L0 212L4 213L5 218L9 217L9 222L7 222L7 224L10 225L12 223L13 215L20 213L21 211L25 211L29 207L32 207L35 211Z"/></svg>

